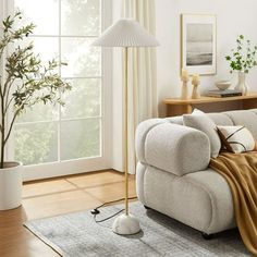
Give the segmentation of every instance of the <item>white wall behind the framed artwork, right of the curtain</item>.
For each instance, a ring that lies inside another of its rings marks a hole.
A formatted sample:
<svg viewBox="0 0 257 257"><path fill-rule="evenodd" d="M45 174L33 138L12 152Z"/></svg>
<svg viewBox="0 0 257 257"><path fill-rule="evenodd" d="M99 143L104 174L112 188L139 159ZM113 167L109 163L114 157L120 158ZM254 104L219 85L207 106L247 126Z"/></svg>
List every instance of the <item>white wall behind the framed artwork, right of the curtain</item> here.
<svg viewBox="0 0 257 257"><path fill-rule="evenodd" d="M235 45L237 35L247 36L257 44L257 1L256 0L156 0L157 38L157 82L159 113L164 115L163 98L180 96L181 29L180 14L217 14L217 75L203 76L200 91L213 88L215 81L232 79L236 74L229 73L224 56ZM252 90L257 90L257 68L248 75Z"/></svg>

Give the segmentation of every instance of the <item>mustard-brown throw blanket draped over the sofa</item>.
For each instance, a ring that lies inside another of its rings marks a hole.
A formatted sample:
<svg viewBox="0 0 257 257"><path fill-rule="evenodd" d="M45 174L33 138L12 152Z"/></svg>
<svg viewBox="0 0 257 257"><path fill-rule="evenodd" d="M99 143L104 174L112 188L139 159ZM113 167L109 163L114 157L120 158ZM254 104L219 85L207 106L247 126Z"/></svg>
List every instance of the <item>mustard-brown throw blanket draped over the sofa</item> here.
<svg viewBox="0 0 257 257"><path fill-rule="evenodd" d="M257 256L257 151L223 152L211 159L210 168L229 183L242 240Z"/></svg>

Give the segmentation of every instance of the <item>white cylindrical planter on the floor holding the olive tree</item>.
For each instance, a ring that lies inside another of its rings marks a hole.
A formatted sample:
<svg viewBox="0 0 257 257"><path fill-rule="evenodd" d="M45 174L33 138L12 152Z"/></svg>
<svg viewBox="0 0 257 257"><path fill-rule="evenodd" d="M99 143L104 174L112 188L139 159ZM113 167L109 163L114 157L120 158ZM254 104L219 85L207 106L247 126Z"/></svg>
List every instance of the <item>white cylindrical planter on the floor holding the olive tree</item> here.
<svg viewBox="0 0 257 257"><path fill-rule="evenodd" d="M21 162L5 162L0 169L0 210L14 209L22 204Z"/></svg>

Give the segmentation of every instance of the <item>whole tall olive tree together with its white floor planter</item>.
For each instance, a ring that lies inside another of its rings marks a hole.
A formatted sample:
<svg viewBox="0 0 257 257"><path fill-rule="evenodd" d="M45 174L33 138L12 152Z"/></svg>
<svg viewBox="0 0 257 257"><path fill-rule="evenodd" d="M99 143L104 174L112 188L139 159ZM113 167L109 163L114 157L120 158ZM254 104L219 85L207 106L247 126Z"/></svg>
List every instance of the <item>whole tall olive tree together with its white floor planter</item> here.
<svg viewBox="0 0 257 257"><path fill-rule="evenodd" d="M71 88L57 74L64 63L51 60L42 65L33 44L22 46L35 25L15 28L20 19L20 12L4 19L0 32L0 210L21 205L22 163L7 161L4 155L15 119L40 102L63 105L60 95Z"/></svg>

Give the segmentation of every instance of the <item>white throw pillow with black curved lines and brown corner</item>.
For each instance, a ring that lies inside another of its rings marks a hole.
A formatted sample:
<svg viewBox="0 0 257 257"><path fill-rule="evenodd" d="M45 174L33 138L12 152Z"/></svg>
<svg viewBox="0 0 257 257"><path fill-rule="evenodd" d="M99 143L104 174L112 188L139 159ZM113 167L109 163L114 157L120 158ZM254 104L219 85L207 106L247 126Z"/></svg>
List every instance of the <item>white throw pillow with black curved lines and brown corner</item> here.
<svg viewBox="0 0 257 257"><path fill-rule="evenodd" d="M217 130L228 151L240 154L255 149L255 139L245 126L217 126Z"/></svg>

